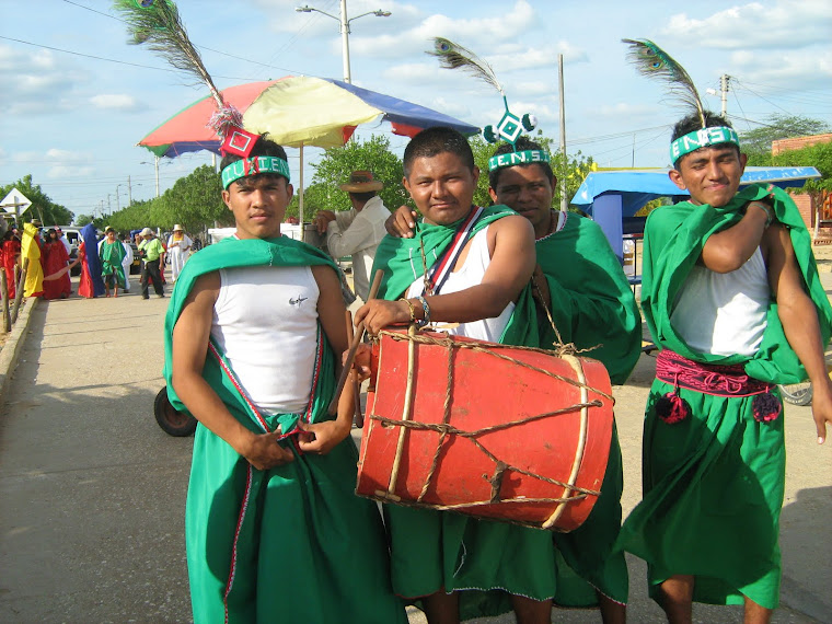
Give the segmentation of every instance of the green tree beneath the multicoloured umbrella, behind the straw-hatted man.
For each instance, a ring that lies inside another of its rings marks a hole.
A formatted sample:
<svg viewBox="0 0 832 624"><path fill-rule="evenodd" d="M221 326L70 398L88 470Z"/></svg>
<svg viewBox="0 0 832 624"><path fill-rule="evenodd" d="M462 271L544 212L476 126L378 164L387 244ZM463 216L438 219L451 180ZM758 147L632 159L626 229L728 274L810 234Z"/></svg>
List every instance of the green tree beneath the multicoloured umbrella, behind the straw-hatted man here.
<svg viewBox="0 0 832 624"><path fill-rule="evenodd" d="M372 135L366 141L353 139L344 147L331 148L313 166L312 184L303 193L305 220L317 210L349 210L349 197L338 186L349 180L349 174L356 170L369 170L384 183L379 196L391 210L407 200L407 193L402 186L402 160L390 151L390 139L384 136ZM287 215L297 217L298 205L296 194Z"/></svg>

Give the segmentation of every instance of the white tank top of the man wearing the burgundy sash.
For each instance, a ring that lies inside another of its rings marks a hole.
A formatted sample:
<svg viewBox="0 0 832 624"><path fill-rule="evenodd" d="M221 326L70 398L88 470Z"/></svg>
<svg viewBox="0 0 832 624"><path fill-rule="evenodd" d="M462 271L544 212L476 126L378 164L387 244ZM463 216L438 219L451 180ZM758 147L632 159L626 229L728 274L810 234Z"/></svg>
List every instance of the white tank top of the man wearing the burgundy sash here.
<svg viewBox="0 0 832 624"><path fill-rule="evenodd" d="M763 342L771 288L760 247L737 270L691 270L670 323L687 345L717 356L753 356Z"/></svg>

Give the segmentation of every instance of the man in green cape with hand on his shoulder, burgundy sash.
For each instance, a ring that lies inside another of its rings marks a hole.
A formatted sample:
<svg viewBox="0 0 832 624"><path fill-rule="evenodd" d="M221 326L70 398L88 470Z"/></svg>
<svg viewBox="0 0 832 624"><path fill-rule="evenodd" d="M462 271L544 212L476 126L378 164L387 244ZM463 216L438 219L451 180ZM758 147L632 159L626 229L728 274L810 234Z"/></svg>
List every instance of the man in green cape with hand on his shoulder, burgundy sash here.
<svg viewBox="0 0 832 624"><path fill-rule="evenodd" d="M832 423L832 309L789 196L738 192L746 155L712 113L673 130L670 178L691 200L645 229L642 307L661 351L644 431L644 500L620 538L647 561L671 622L692 602L767 622L781 578L785 448L778 383L808 375L818 441Z"/></svg>

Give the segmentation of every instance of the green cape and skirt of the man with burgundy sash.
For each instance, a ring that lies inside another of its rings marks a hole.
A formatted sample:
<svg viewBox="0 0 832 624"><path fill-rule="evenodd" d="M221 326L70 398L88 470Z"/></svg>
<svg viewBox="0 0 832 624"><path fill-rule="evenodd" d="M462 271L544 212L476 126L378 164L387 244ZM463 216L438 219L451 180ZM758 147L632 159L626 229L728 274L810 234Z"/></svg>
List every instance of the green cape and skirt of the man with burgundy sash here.
<svg viewBox="0 0 832 624"><path fill-rule="evenodd" d="M765 382L794 383L806 373L786 340L774 299L769 302L762 345L751 358L694 351L670 322L680 289L708 236L739 222L748 201L770 194L777 220L789 229L825 345L832 308L818 277L809 233L790 197L776 187L749 186L723 208L682 203L654 210L645 229L642 307L661 348L706 363L741 363L749 377ZM619 545L647 561L656 599L659 583L682 574L695 576L696 602L742 604L748 597L774 609L781 578L784 417L759 423L753 397L680 389L692 415L669 425L656 415L655 406L672 391L671 384L654 381L645 414L644 499L624 522Z"/></svg>

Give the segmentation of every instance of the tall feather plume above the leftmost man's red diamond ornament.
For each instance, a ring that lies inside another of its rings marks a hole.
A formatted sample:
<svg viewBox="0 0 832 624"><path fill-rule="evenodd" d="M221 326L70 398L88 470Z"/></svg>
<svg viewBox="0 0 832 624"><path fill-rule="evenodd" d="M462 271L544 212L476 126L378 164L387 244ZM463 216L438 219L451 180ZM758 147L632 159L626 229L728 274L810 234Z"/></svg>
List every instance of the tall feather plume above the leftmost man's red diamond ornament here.
<svg viewBox="0 0 832 624"><path fill-rule="evenodd" d="M129 44L147 45L176 69L196 77L208 85L217 106L224 106L199 51L188 38L176 4L171 0L114 0L113 8L127 22Z"/></svg>

